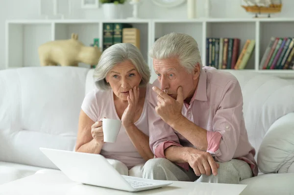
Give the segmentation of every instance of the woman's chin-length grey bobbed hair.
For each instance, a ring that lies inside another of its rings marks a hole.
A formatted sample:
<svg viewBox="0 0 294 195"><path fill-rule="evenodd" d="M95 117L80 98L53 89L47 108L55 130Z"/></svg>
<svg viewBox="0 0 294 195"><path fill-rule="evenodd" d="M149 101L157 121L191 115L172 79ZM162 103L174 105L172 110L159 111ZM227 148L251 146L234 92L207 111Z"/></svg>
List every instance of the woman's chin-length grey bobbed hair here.
<svg viewBox="0 0 294 195"><path fill-rule="evenodd" d="M93 78L98 89L108 90L111 89L110 85L106 82L107 73L117 64L129 60L136 68L142 77L139 86L146 86L150 80L150 69L145 62L140 50L131 43L117 43L105 51L100 56L98 65L96 66Z"/></svg>

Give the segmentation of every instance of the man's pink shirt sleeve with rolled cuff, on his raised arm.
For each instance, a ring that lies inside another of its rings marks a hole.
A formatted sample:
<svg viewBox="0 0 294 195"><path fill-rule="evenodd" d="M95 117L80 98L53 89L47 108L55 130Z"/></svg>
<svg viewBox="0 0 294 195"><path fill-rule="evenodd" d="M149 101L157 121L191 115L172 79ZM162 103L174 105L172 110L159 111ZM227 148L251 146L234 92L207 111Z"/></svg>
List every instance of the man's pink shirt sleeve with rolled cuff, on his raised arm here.
<svg viewBox="0 0 294 195"><path fill-rule="evenodd" d="M236 152L243 116L240 84L231 80L224 87L219 108L213 118L213 131L207 131L207 152L219 162L230 161Z"/></svg>

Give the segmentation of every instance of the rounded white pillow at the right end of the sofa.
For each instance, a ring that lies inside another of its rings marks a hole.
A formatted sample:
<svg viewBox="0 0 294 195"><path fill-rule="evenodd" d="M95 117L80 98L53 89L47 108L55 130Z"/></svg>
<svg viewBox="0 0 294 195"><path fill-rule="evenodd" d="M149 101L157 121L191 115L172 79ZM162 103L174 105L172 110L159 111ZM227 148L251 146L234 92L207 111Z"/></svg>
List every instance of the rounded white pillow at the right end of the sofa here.
<svg viewBox="0 0 294 195"><path fill-rule="evenodd" d="M257 164L263 173L294 173L294 112L270 126L259 148Z"/></svg>

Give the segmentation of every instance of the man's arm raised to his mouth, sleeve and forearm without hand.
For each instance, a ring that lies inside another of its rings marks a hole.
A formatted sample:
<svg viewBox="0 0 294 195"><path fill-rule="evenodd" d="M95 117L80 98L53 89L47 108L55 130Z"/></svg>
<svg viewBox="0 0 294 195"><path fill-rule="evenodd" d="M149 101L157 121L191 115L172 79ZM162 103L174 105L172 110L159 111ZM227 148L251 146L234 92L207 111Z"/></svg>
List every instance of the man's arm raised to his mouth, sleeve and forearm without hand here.
<svg viewBox="0 0 294 195"><path fill-rule="evenodd" d="M220 162L233 158L240 136L243 97L240 84L231 80L223 90L221 103L213 119L213 131L204 130L187 118L180 117L170 125L197 149L207 151Z"/></svg>

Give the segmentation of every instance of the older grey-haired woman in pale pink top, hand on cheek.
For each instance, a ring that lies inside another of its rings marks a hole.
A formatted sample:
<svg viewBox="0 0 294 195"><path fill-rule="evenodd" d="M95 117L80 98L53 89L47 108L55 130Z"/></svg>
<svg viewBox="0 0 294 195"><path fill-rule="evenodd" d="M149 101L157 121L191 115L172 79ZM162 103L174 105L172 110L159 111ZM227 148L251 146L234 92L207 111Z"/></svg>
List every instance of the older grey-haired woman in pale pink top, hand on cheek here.
<svg viewBox="0 0 294 195"><path fill-rule="evenodd" d="M75 151L101 154L119 173L142 177L144 163L154 156L147 121L149 67L136 46L118 43L102 53L93 76L97 88L82 103ZM122 120L115 143L103 141L103 118Z"/></svg>

